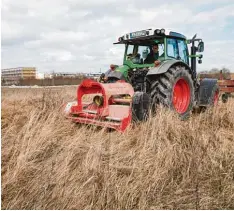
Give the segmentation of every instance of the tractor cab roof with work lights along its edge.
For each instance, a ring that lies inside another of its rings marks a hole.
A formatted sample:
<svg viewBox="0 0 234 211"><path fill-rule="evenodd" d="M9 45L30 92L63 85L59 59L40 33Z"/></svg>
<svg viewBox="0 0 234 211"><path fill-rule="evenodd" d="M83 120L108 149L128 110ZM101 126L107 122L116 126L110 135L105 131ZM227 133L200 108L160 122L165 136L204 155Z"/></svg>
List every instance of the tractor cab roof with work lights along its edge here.
<svg viewBox="0 0 234 211"><path fill-rule="evenodd" d="M186 37L180 33L165 30L165 29L146 29L136 32L131 32L128 34L123 35L122 37L119 37L119 42L116 42L114 44L125 44L125 43L141 43L141 42L152 42L155 39L162 39L164 37L170 37L170 38L177 38L177 39L184 39L186 40Z"/></svg>

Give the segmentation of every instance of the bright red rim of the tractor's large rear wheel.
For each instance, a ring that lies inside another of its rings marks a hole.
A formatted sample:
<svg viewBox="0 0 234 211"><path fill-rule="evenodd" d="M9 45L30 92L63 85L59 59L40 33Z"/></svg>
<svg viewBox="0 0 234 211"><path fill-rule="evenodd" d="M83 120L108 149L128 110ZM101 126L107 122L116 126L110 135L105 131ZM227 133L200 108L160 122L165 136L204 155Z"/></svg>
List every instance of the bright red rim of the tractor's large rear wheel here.
<svg viewBox="0 0 234 211"><path fill-rule="evenodd" d="M182 114L187 111L190 103L190 87L185 79L179 79L173 90L173 106L175 110Z"/></svg>

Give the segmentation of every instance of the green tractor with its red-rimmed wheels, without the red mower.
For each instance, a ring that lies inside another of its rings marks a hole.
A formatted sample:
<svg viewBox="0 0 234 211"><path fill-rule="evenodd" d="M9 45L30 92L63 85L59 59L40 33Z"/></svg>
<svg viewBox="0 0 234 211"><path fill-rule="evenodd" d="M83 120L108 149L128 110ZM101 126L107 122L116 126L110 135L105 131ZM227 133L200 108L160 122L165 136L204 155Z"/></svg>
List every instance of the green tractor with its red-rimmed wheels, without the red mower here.
<svg viewBox="0 0 234 211"><path fill-rule="evenodd" d="M112 66L107 81L126 80L135 92L148 95L152 108L163 104L186 117L194 107L217 103L217 80L197 78L197 59L200 64L203 58L197 52L204 51L204 42L196 35L186 39L177 32L148 29L126 34L114 44L125 45L123 65Z"/></svg>

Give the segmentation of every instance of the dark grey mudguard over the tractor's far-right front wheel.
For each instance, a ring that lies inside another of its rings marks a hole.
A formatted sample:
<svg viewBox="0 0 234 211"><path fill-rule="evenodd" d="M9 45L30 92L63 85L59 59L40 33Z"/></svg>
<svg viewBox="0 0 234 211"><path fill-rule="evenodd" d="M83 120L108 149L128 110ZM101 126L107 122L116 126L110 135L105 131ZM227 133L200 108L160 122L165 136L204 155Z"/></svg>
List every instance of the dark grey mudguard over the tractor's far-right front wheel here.
<svg viewBox="0 0 234 211"><path fill-rule="evenodd" d="M214 87L218 84L217 79L204 78L200 81L200 87L198 91L198 105L207 106L210 105L210 99Z"/></svg>

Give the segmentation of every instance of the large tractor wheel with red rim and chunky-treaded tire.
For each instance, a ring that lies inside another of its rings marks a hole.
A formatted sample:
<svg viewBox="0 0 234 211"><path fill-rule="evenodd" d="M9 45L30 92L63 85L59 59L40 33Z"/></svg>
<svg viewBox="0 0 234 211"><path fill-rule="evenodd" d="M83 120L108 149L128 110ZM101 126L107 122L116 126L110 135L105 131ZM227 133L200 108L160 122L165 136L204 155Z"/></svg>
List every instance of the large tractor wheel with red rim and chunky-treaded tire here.
<svg viewBox="0 0 234 211"><path fill-rule="evenodd" d="M194 82L184 66L171 67L151 83L152 106L162 104L186 118L194 105Z"/></svg>

